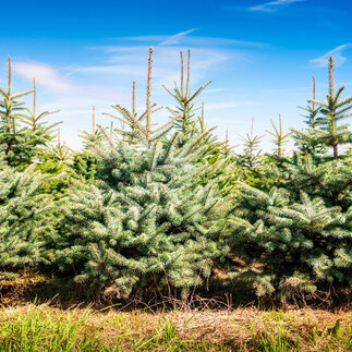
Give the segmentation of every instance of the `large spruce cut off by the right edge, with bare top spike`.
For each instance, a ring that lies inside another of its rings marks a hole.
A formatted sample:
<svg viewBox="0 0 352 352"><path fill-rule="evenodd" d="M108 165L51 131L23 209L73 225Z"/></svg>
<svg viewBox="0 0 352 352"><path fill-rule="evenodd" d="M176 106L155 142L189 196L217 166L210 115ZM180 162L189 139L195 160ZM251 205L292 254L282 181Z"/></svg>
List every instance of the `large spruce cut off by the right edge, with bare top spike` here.
<svg viewBox="0 0 352 352"><path fill-rule="evenodd" d="M341 148L352 133L339 124L350 117L352 97L341 99L342 92L335 94L330 59L327 100L309 100L320 107L319 123L309 120L307 131L292 130L305 155L271 168L283 181L269 192L242 184L229 241L247 260L258 295L352 287L352 159Z"/></svg>

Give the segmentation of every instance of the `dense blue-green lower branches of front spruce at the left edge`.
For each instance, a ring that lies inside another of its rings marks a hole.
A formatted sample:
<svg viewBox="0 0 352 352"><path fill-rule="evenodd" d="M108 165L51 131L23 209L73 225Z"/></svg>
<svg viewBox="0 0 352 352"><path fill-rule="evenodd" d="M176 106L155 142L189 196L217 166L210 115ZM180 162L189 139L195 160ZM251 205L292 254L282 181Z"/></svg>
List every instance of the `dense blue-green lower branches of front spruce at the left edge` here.
<svg viewBox="0 0 352 352"><path fill-rule="evenodd" d="M53 232L52 202L40 194L44 177L31 167L25 172L0 171L0 265L4 276L45 262L46 236Z"/></svg>

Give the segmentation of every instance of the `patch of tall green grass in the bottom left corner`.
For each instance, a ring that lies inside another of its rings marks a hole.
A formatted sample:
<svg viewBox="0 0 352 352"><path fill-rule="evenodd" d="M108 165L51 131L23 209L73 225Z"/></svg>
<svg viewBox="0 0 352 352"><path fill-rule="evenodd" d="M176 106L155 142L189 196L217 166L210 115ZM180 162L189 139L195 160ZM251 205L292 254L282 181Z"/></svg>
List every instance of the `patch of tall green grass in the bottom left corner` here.
<svg viewBox="0 0 352 352"><path fill-rule="evenodd" d="M1 351L99 351L104 344L98 339L99 326L88 329L92 316L88 309L54 314L46 306L31 306L8 317L1 314Z"/></svg>

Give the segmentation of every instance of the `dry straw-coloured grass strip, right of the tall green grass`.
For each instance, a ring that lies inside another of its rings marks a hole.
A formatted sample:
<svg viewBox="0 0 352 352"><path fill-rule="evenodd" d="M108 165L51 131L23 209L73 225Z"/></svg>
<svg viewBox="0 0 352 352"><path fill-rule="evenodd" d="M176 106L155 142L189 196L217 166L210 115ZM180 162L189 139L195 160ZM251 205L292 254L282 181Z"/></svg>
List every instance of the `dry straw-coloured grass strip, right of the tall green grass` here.
<svg viewBox="0 0 352 352"><path fill-rule="evenodd" d="M317 333L324 335L325 331L330 331L338 320L342 327L351 327L352 312L333 314L307 308L287 312L238 308L205 312L175 311L163 314L110 312L98 313L93 317L94 325L102 324L104 333L107 337L133 333L135 337L148 338L158 331L165 321L168 321L174 326L177 336L182 340L207 341L214 344L234 341L238 347L243 348L252 342L255 343L255 340L260 340L264 333L275 336L282 331L291 341L300 336L307 348L306 338L311 331L316 329ZM329 333L326 335L326 339L319 341L320 345L311 344L312 350L320 351L328 340L331 340Z"/></svg>

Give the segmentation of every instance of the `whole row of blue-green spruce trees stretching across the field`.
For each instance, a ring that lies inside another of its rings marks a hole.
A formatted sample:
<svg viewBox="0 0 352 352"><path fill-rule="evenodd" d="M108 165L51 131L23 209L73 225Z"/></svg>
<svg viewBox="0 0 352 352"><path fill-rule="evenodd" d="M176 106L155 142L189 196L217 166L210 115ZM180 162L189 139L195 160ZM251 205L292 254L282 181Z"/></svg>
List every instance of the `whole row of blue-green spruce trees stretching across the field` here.
<svg viewBox="0 0 352 352"><path fill-rule="evenodd" d="M114 105L121 128L84 132L83 149L50 147L53 124L36 112L36 89L0 89L0 265L7 278L36 269L90 292L186 295L217 277L258 296L352 286L352 97L308 100L306 129L272 123L275 148L220 143L198 113L205 89L167 90L177 107L153 123L149 52L146 110ZM34 108L19 100L34 94ZM96 126L95 126L96 128ZM284 150L294 138L295 150Z"/></svg>

